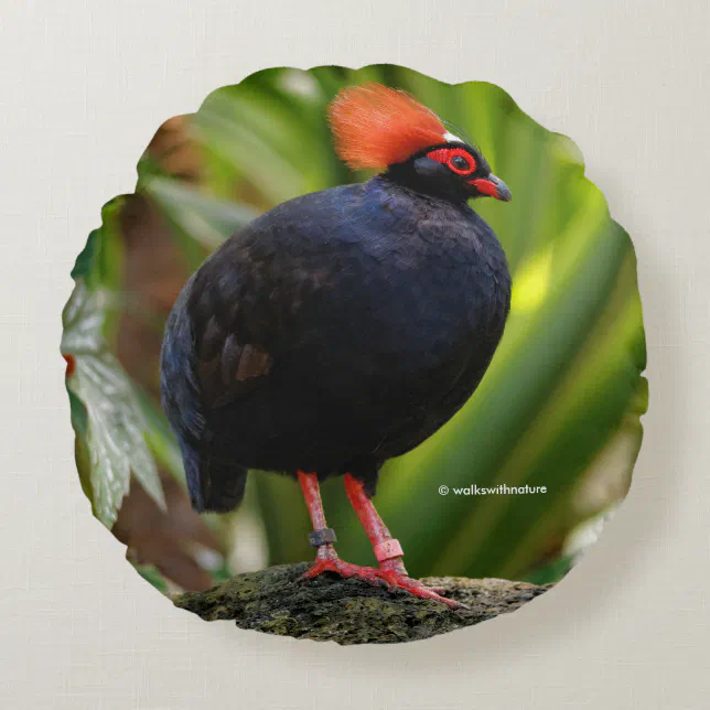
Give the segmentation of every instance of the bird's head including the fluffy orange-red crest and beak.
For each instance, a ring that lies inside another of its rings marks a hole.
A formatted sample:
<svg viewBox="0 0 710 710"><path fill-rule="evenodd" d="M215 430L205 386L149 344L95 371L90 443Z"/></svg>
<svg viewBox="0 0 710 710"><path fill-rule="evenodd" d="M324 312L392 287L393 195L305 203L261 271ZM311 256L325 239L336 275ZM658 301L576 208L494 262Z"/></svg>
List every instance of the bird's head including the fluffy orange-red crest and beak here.
<svg viewBox="0 0 710 710"><path fill-rule="evenodd" d="M346 88L331 104L329 119L335 149L351 168L386 169L391 180L451 202L510 200L481 152L404 92L380 84Z"/></svg>

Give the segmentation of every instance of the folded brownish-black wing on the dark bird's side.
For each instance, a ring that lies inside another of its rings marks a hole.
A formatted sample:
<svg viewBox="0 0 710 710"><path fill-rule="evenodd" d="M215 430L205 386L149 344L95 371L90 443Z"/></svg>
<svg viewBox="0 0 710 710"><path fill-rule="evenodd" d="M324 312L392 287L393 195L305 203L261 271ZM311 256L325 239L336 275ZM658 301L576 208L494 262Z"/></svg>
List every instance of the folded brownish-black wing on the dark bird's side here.
<svg viewBox="0 0 710 710"><path fill-rule="evenodd" d="M195 275L189 301L195 374L206 409L268 381L303 337L303 312L327 287L313 254L279 225L236 235ZM320 261L321 266L323 261Z"/></svg>

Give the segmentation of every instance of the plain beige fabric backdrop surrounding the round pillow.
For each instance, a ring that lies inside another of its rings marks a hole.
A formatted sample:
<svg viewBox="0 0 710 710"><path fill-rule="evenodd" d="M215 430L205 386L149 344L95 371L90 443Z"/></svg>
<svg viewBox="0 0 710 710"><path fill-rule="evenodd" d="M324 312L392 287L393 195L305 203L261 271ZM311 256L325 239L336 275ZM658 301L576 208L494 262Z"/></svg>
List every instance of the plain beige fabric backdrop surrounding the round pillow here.
<svg viewBox="0 0 710 710"><path fill-rule="evenodd" d="M0 700L8 708L707 708L710 109L702 0L1 0ZM397 647L206 624L123 562L73 463L69 268L159 123L267 66L485 79L580 146L639 259L652 404L589 558L507 617Z"/></svg>

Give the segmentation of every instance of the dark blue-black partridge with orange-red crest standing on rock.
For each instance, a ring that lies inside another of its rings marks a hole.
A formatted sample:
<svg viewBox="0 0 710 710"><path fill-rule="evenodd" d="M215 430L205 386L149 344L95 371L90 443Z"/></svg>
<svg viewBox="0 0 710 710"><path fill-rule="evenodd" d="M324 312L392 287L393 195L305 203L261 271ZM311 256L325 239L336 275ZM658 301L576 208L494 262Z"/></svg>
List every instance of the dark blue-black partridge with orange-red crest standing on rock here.
<svg viewBox="0 0 710 710"><path fill-rule="evenodd" d="M510 191L405 90L347 86L326 111L340 159L373 176L275 206L197 268L165 325L164 411L196 510L237 507L249 471L290 475L316 550L302 581L334 572L456 609L408 575L373 498L384 463L461 409L501 342L508 263L469 201ZM333 476L378 567L338 557L320 494Z"/></svg>

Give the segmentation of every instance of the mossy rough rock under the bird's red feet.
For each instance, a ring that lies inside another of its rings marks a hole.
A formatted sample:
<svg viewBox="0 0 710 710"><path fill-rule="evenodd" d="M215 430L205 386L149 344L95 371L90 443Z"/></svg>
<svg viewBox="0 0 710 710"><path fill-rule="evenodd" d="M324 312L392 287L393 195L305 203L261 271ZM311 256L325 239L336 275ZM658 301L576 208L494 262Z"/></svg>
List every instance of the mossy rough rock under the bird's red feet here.
<svg viewBox="0 0 710 710"><path fill-rule="evenodd" d="M499 579L431 577L443 595L469 609L452 611L404 591L389 591L330 573L300 582L309 563L281 564L237 574L205 592L174 599L206 621L232 620L240 628L267 634L334 641L337 644L392 644L429 638L515 611L552 585Z"/></svg>

